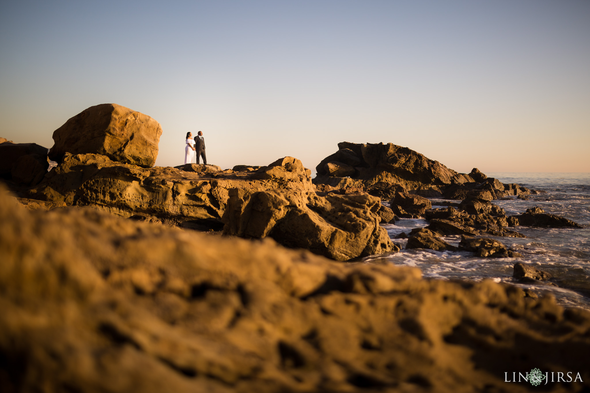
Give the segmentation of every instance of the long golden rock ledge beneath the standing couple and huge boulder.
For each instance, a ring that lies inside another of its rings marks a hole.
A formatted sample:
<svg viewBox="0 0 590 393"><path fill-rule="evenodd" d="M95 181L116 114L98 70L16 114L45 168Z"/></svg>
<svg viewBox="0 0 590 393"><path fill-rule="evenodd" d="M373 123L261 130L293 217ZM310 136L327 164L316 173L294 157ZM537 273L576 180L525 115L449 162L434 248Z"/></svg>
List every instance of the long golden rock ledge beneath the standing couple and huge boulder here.
<svg viewBox="0 0 590 393"><path fill-rule="evenodd" d="M21 196L68 206L93 206L123 217L165 224L219 227L228 190L310 190L309 169L285 157L256 171L217 171L215 166L186 164L143 168L117 163L100 154L65 154L36 187Z"/></svg>

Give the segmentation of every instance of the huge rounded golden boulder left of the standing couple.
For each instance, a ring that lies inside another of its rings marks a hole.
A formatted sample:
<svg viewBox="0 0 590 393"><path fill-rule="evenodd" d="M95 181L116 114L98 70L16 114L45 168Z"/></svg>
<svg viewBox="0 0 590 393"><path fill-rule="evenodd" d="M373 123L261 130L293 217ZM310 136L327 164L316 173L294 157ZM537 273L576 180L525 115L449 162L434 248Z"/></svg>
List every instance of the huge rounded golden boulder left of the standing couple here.
<svg viewBox="0 0 590 393"><path fill-rule="evenodd" d="M153 118L117 104L81 111L53 132L51 160L65 153L102 154L113 161L152 167L158 157L162 127Z"/></svg>

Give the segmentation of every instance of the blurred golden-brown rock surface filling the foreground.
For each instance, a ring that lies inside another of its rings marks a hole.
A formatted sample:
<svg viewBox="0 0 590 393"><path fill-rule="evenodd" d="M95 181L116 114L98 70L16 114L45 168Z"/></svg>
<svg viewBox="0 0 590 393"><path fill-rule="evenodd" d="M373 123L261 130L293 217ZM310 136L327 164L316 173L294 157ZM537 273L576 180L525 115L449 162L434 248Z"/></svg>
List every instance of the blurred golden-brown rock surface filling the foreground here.
<svg viewBox="0 0 590 393"><path fill-rule="evenodd" d="M3 194L2 392L506 391L533 368L590 387L590 313L550 296Z"/></svg>

